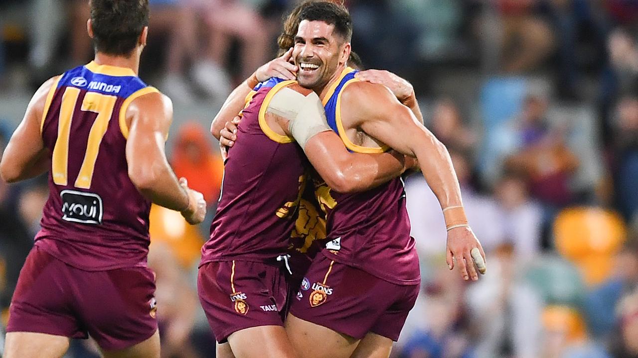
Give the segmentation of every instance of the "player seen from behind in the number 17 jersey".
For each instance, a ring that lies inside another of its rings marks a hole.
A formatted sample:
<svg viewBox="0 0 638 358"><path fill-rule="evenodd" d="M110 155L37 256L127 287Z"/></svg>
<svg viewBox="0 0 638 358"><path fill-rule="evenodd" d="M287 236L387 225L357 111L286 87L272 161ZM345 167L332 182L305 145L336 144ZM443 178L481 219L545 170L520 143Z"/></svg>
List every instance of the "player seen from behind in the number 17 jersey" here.
<svg viewBox="0 0 638 358"><path fill-rule="evenodd" d="M90 334L107 358L159 357L151 202L196 224L202 194L164 141L172 104L137 76L147 0L92 0L95 60L45 82L0 162L7 182L49 171L41 230L11 299L4 357L53 358Z"/></svg>

